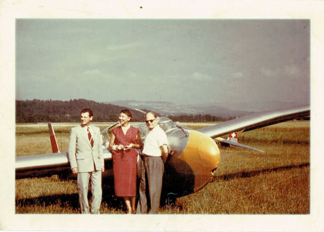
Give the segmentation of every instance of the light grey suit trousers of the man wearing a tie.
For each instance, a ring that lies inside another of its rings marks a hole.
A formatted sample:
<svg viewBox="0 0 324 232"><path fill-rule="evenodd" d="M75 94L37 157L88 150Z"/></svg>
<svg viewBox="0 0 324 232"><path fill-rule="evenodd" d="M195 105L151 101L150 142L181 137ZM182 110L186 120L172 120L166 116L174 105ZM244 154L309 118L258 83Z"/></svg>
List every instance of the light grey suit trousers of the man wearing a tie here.
<svg viewBox="0 0 324 232"><path fill-rule="evenodd" d="M101 170L78 173L78 192L81 214L89 214L88 188L91 183L91 214L99 214L101 204Z"/></svg>

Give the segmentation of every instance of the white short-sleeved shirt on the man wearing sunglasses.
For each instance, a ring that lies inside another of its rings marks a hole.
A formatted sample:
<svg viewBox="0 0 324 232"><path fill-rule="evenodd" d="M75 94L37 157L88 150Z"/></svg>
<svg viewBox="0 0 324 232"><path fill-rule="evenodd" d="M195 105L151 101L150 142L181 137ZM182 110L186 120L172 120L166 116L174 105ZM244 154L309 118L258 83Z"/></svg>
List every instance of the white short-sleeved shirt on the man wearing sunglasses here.
<svg viewBox="0 0 324 232"><path fill-rule="evenodd" d="M161 146L169 145L168 138L162 128L157 125L146 135L143 153L150 156L161 156Z"/></svg>

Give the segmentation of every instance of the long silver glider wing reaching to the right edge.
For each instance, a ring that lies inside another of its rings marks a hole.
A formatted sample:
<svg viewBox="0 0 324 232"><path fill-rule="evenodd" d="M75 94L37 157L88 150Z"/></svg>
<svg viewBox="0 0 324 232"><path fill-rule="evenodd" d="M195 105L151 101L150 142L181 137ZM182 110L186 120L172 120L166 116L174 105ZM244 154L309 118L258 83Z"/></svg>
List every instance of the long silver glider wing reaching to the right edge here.
<svg viewBox="0 0 324 232"><path fill-rule="evenodd" d="M298 117L308 117L310 115L310 107L298 107L288 109L270 110L260 113L247 115L238 119L233 119L224 123L207 126L197 131L204 133L211 138L217 138L227 135L231 132L249 131L264 126L282 123L293 120Z"/></svg>

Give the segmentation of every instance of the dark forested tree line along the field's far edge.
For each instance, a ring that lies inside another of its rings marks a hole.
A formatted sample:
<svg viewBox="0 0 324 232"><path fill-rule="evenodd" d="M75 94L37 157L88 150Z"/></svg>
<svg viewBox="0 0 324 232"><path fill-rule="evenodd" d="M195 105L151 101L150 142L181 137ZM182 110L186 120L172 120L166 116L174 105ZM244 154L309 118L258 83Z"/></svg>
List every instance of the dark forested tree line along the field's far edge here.
<svg viewBox="0 0 324 232"><path fill-rule="evenodd" d="M98 103L86 99L59 100L16 100L16 123L70 123L80 121L80 111L90 108L94 112L94 122L116 122L119 112L126 107L113 104ZM142 113L130 109L133 122L143 122ZM143 109L144 111L148 111ZM173 121L179 122L216 122L227 121L235 118L205 115L172 115L168 116Z"/></svg>

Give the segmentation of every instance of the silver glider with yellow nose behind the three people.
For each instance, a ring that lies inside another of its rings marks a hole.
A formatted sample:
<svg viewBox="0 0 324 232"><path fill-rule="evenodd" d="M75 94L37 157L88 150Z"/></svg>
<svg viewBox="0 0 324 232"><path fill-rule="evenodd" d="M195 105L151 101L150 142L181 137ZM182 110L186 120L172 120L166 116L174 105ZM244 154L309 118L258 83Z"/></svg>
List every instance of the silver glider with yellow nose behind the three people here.
<svg viewBox="0 0 324 232"><path fill-rule="evenodd" d="M167 117L160 117L159 125L166 132L169 140L169 156L165 163L162 184L162 201L171 202L178 197L192 194L212 180L220 161L217 144L230 144L262 152L235 140L220 138L221 136L309 116L309 106L278 109L247 115L197 130L175 123ZM101 131L105 161L103 179L110 180L111 186L113 186L113 161L111 151L108 148L109 131L117 125L118 122ZM139 123L133 126L140 130L142 141L145 142L145 136L149 131L146 124ZM71 175L68 154L59 151L55 133L50 123L49 136L52 153L16 157L16 179L54 174Z"/></svg>

